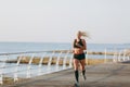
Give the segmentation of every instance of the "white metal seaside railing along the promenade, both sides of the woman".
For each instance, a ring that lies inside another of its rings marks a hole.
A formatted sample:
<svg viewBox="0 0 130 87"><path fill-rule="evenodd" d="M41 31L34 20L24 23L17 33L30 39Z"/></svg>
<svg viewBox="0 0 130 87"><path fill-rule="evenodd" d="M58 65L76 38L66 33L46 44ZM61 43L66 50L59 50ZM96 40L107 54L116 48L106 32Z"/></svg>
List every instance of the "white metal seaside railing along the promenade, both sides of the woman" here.
<svg viewBox="0 0 130 87"><path fill-rule="evenodd" d="M92 51L86 50L86 60L87 60L87 65L89 64L89 59L91 58ZM105 49L104 52L102 53L104 63L107 63L108 50ZM62 57L62 54L64 54ZM95 54L96 55L96 54ZM22 60L27 60L27 57L29 57L29 60L26 64L22 64ZM39 58L39 62L34 66L34 59L35 57ZM54 50L54 51L31 51L31 52L16 52L16 53L0 53L0 84L2 85L4 82L4 77L12 77L13 82L17 82L18 78L21 78L21 75L24 75L25 78L30 78L34 76L38 75L43 75L51 73L52 69L52 61L54 60L53 58L56 57L55 59L55 69L53 72L62 71L62 70L67 70L73 67L73 53L72 50ZM3 59L4 58L4 59ZM49 58L47 67L44 67L46 71L43 71L43 60L46 58ZM63 64L60 65L61 59L63 60ZM130 53L127 53L126 49L120 50L120 51L113 51L112 54L113 62L123 62L123 61L129 61L130 60ZM12 61L13 60L13 61ZM69 62L67 62L69 61ZM15 62L8 64L6 62ZM66 65L68 63L68 65ZM23 66L24 65L24 66ZM24 67L24 69L23 69ZM10 71L13 69L13 71ZM5 70L9 70L5 72ZM34 75L34 71L37 72L37 74Z"/></svg>

